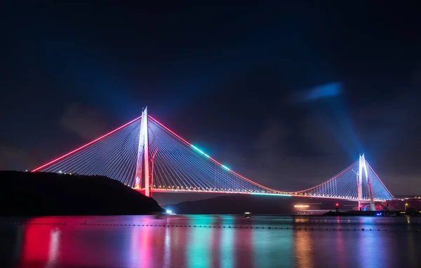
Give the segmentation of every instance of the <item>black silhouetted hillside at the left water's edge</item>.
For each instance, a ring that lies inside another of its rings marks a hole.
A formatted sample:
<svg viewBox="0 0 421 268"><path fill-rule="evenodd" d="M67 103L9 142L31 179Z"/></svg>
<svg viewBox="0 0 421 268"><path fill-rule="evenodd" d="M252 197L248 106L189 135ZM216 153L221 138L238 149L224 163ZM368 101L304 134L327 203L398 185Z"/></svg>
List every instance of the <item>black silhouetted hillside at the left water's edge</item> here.
<svg viewBox="0 0 421 268"><path fill-rule="evenodd" d="M161 213L150 197L102 176L0 171L1 216Z"/></svg>

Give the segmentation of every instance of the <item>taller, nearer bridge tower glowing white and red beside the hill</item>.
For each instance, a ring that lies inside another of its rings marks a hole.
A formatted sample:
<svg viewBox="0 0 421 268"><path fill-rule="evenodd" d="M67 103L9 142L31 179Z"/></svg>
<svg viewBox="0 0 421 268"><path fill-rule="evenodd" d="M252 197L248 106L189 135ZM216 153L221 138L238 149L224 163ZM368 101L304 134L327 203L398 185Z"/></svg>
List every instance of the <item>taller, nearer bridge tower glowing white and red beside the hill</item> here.
<svg viewBox="0 0 421 268"><path fill-rule="evenodd" d="M145 195L149 197L149 142L147 129L147 108L145 108L142 112L142 120L140 122L138 160L136 161L135 173L135 189L142 188L143 175L145 177Z"/></svg>

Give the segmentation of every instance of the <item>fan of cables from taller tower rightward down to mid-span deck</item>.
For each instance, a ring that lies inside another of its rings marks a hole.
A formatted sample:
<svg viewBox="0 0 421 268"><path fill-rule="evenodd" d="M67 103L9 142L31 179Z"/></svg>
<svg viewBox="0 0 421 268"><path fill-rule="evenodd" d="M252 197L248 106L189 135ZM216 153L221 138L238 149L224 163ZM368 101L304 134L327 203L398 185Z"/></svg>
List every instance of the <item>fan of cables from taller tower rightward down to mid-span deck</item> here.
<svg viewBox="0 0 421 268"><path fill-rule="evenodd" d="M151 157L156 152L153 190L281 193L236 174L153 118L148 125Z"/></svg>

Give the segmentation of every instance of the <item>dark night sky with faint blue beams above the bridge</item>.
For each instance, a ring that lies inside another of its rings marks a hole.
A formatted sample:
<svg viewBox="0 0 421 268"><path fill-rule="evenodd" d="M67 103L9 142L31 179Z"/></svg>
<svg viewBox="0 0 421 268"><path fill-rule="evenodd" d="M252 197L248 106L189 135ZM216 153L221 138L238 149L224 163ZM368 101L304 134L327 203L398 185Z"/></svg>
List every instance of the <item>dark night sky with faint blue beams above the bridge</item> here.
<svg viewBox="0 0 421 268"><path fill-rule="evenodd" d="M415 1L10 2L0 169L36 167L148 106L272 188L326 181L366 153L393 194L421 193Z"/></svg>

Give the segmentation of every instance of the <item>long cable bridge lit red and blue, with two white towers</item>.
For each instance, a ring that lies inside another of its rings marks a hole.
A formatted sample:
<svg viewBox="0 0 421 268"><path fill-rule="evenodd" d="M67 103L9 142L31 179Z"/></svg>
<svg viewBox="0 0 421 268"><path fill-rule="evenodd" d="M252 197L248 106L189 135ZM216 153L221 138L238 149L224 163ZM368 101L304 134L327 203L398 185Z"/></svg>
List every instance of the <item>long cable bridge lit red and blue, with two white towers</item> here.
<svg viewBox="0 0 421 268"><path fill-rule="evenodd" d="M32 172L107 176L146 196L153 192L213 192L346 199L370 204L394 199L364 155L312 188L284 192L241 176L147 114Z"/></svg>

